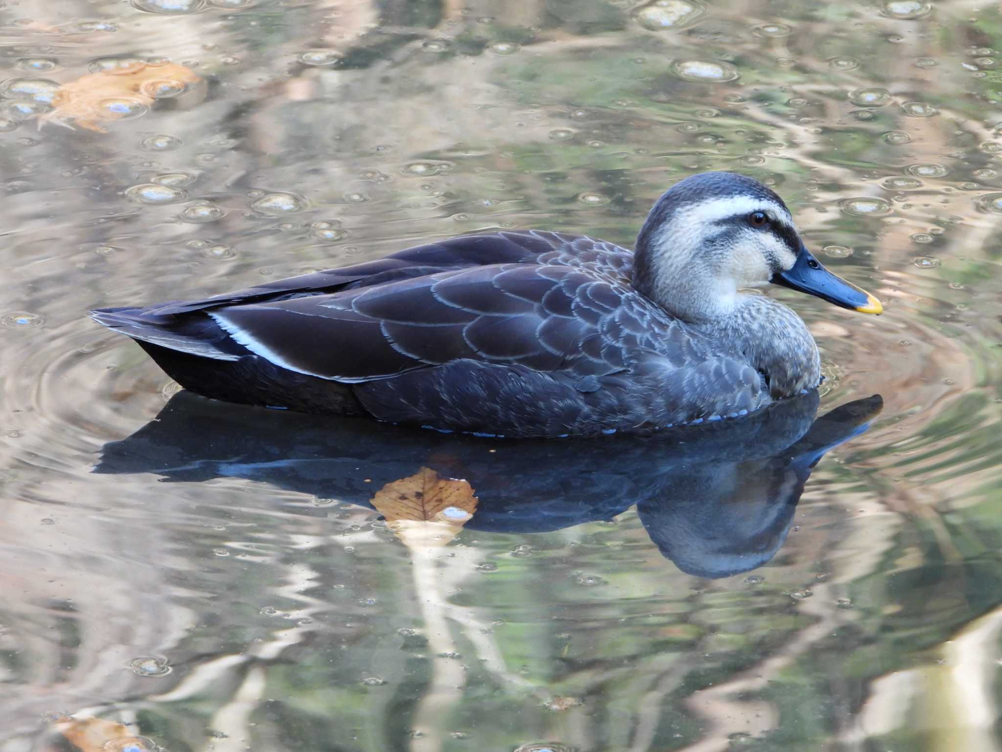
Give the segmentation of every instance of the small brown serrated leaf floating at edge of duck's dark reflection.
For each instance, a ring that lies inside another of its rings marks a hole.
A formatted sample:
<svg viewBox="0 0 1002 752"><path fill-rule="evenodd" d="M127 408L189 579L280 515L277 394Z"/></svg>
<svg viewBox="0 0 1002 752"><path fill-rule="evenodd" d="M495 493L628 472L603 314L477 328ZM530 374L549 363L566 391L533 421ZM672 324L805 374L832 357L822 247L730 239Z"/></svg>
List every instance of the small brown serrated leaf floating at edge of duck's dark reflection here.
<svg viewBox="0 0 1002 752"><path fill-rule="evenodd" d="M414 475L387 483L372 497L387 526L409 547L445 545L477 510L477 497L465 480L443 478L422 467Z"/></svg>

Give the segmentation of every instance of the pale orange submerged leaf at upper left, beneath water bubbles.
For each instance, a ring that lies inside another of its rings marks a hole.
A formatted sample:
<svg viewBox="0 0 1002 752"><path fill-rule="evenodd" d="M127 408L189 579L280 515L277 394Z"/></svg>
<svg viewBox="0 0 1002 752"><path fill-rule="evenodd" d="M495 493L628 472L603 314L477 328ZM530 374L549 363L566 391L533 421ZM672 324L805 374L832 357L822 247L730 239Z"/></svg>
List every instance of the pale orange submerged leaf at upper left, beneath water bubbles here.
<svg viewBox="0 0 1002 752"><path fill-rule="evenodd" d="M75 123L105 133L102 121L134 117L154 100L177 96L200 80L193 70L177 63L123 61L119 67L63 84L53 97L53 109L38 118L38 127L54 122L72 128Z"/></svg>

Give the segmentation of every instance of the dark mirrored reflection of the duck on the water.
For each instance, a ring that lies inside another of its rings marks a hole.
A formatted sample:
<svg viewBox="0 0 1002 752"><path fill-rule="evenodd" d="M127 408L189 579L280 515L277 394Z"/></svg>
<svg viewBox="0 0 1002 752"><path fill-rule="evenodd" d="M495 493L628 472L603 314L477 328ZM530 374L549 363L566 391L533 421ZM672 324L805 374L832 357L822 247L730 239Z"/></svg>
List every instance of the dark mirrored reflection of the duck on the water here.
<svg viewBox="0 0 1002 752"><path fill-rule="evenodd" d="M100 473L198 481L238 477L372 508L386 483L430 467L478 498L466 527L539 532L614 517L636 504L661 553L720 578L769 561L826 451L865 431L879 396L815 419L818 393L737 420L649 437L480 439L350 418L243 408L181 392L106 444Z"/></svg>

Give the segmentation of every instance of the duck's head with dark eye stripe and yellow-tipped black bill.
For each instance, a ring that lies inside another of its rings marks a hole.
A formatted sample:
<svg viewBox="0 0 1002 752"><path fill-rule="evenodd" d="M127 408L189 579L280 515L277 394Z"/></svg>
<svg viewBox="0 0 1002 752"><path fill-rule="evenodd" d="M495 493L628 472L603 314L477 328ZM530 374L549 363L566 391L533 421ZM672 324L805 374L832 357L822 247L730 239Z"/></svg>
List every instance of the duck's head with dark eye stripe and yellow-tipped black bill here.
<svg viewBox="0 0 1002 752"><path fill-rule="evenodd" d="M884 308L821 265L783 200L752 177L702 172L675 183L647 216L633 286L687 321L726 318L738 290L784 285L862 313Z"/></svg>

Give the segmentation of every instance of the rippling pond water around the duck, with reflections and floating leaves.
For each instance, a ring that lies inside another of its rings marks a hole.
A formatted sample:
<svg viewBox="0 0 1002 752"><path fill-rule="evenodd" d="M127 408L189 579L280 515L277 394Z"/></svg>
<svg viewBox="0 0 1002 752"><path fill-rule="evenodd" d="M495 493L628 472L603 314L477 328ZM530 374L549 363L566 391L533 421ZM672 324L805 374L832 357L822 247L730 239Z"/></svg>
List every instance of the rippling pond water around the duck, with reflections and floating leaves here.
<svg viewBox="0 0 1002 752"><path fill-rule="evenodd" d="M0 751L1002 749L998 3L8 0L0 69ZM705 169L884 302L770 291L820 404L443 437L85 316Z"/></svg>

